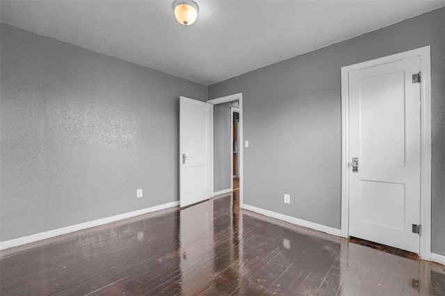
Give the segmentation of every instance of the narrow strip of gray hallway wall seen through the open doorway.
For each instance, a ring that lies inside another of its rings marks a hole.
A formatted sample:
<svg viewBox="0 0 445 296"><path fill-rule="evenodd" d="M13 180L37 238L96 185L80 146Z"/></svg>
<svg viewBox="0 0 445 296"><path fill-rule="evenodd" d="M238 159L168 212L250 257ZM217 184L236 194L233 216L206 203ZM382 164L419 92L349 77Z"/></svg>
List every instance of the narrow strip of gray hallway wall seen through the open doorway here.
<svg viewBox="0 0 445 296"><path fill-rule="evenodd" d="M232 123L228 103L213 106L213 191L230 188Z"/></svg>

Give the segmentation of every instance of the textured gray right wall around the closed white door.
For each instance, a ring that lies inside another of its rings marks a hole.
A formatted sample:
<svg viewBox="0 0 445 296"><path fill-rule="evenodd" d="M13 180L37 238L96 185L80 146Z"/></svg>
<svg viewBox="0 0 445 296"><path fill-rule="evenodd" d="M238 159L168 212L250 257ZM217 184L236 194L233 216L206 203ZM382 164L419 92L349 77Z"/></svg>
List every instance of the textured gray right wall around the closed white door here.
<svg viewBox="0 0 445 296"><path fill-rule="evenodd" d="M445 254L445 8L209 86L209 99L243 92L244 202L339 229L340 68L427 45L432 252Z"/></svg>

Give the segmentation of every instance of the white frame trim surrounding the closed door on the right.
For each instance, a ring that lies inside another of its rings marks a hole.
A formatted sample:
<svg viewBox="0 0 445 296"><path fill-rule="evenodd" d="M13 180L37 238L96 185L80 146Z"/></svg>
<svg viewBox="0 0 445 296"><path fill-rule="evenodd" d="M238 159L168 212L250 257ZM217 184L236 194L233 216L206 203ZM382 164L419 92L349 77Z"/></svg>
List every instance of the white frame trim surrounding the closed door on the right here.
<svg viewBox="0 0 445 296"><path fill-rule="evenodd" d="M431 77L430 46L341 67L341 236L349 238L349 72L419 56L421 67L420 254L431 255Z"/></svg>

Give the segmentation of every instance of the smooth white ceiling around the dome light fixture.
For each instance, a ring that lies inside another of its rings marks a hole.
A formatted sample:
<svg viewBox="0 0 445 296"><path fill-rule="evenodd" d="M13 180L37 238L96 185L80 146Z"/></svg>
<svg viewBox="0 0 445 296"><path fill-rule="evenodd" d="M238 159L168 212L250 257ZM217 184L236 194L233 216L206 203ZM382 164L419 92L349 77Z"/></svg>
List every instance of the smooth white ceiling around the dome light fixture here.
<svg viewBox="0 0 445 296"><path fill-rule="evenodd" d="M445 0L0 0L0 21L210 85L445 6Z"/></svg>

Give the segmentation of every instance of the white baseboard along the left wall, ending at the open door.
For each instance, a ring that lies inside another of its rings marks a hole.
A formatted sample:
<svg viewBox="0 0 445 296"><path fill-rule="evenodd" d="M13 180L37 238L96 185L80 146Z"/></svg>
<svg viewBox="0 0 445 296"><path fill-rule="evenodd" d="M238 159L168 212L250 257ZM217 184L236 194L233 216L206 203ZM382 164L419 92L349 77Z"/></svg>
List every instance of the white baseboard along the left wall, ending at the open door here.
<svg viewBox="0 0 445 296"><path fill-rule="evenodd" d="M14 238L13 240L6 240L4 242L0 242L0 250L9 249L11 247L18 247L20 245L26 245L31 242L37 242L38 240L46 240L47 238L54 238L56 236L61 236L63 234L72 233L74 231L79 231L79 230L87 229L90 227L96 227L99 225L108 224L111 222L116 222L119 220L131 218L131 217L136 217L138 215L152 213L154 211L160 211L165 208L171 208L173 206L178 206L178 205L179 205L179 202L169 202L167 204L161 204L159 206L143 208L138 211L123 213L120 215L97 219L97 220L93 220L90 222L84 222L84 223L75 224L75 225L68 226L68 227L63 227L63 228L59 228L59 229L53 229L53 230L49 230L49 231L35 233L35 234L32 234L31 236L23 236L22 238Z"/></svg>

